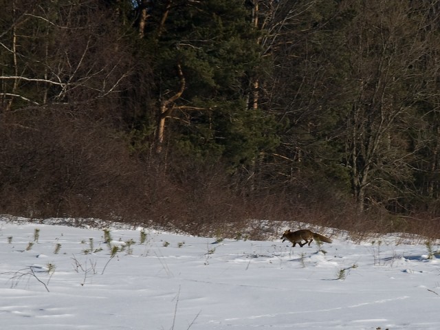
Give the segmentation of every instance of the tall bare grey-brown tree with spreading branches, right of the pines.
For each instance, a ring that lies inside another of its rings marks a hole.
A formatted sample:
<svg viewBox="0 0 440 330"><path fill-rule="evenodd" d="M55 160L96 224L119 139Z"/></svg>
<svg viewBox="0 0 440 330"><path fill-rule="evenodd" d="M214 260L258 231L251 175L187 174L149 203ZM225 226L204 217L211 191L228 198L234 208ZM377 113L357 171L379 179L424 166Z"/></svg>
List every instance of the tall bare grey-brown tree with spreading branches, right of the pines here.
<svg viewBox="0 0 440 330"><path fill-rule="evenodd" d="M347 1L358 12L347 30L346 152L355 201L392 203L410 181L410 163L420 145L410 145L419 93L430 74L420 67L430 38L426 11L410 1ZM428 74L428 76L427 76ZM393 190L387 194L386 190Z"/></svg>

